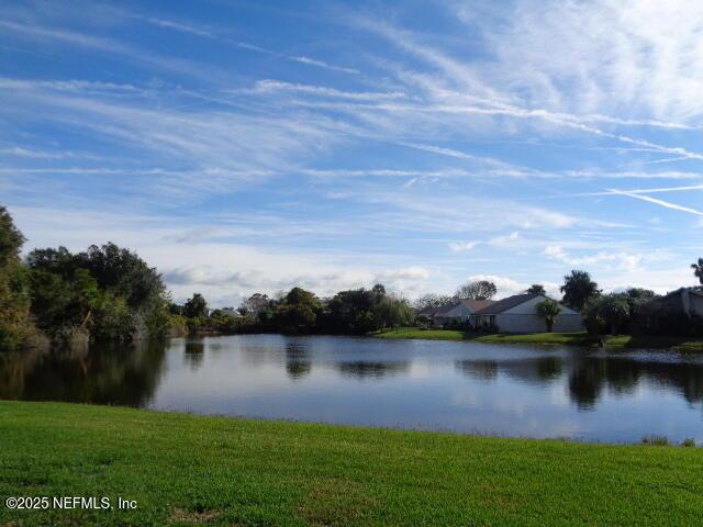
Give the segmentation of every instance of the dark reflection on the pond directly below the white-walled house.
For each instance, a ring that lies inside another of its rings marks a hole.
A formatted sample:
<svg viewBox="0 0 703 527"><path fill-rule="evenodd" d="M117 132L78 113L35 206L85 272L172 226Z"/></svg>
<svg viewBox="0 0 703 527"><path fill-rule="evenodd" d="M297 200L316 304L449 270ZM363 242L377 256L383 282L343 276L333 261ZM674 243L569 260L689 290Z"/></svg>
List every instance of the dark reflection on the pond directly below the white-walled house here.
<svg viewBox="0 0 703 527"><path fill-rule="evenodd" d="M531 384L545 384L561 375L561 359L558 357L505 361L457 360L454 366L461 373L482 381L493 381L502 372Z"/></svg>

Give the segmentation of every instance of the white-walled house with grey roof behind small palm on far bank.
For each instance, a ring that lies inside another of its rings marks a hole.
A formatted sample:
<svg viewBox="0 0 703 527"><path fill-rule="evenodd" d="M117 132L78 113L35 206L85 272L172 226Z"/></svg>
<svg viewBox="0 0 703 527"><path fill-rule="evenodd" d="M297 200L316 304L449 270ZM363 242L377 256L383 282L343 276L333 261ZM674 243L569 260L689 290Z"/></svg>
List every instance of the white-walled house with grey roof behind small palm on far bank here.
<svg viewBox="0 0 703 527"><path fill-rule="evenodd" d="M546 330L544 317L537 314L537 304L547 300L544 294L524 293L507 296L477 311L470 317L477 328L494 328L500 333L543 333ZM555 332L578 332L583 329L583 319L579 313L559 304L561 313L557 316Z"/></svg>

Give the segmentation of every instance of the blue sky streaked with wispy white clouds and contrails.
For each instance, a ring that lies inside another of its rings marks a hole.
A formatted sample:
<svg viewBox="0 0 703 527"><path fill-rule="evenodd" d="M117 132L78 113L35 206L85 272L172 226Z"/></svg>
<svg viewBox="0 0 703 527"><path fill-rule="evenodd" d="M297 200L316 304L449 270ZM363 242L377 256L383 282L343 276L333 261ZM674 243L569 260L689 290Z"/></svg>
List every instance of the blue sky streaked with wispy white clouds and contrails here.
<svg viewBox="0 0 703 527"><path fill-rule="evenodd" d="M695 284L695 0L4 1L0 204L182 301Z"/></svg>

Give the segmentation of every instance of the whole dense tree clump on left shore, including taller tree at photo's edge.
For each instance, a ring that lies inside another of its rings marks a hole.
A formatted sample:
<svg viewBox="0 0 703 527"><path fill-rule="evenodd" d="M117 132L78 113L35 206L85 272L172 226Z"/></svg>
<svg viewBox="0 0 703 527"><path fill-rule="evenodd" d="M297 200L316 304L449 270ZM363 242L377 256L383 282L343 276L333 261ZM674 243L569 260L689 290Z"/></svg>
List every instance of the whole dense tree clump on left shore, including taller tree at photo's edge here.
<svg viewBox="0 0 703 527"><path fill-rule="evenodd" d="M169 327L159 273L136 254L108 243L78 254L35 249L0 206L0 349L135 340Z"/></svg>

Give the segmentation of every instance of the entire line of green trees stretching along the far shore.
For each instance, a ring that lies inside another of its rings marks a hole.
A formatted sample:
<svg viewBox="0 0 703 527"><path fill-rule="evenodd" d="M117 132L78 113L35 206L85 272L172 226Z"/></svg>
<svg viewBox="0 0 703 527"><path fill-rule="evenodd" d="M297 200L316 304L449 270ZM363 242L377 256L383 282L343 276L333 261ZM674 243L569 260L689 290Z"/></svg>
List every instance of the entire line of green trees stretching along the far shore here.
<svg viewBox="0 0 703 527"><path fill-rule="evenodd" d="M23 244L0 206L0 349L189 332L364 335L412 325L419 313L458 299L489 300L498 293L493 282L478 280L454 295L426 294L411 304L382 284L326 299L295 287L272 299L256 293L237 310L210 311L198 293L182 305L171 302L157 270L112 243L77 254L65 247L35 249L22 259ZM703 258L691 267L703 285ZM592 333L703 335L701 317L682 316L654 291L603 293L582 270L566 276L560 289L562 303L580 312ZM533 284L526 292L545 294L545 288ZM548 330L560 311L551 299L537 307Z"/></svg>

